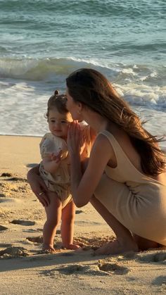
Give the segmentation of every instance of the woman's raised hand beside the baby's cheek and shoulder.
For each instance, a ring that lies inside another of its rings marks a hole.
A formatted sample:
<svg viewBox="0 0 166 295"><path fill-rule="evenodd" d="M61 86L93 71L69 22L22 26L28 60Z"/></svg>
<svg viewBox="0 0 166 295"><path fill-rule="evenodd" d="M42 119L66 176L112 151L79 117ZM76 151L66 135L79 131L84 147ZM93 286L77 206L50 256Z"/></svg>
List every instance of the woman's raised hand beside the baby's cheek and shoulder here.
<svg viewBox="0 0 166 295"><path fill-rule="evenodd" d="M85 140L84 137L82 137L82 130L77 121L70 123L67 144L69 153L72 155L75 155L76 153L81 154L82 151L84 151Z"/></svg>

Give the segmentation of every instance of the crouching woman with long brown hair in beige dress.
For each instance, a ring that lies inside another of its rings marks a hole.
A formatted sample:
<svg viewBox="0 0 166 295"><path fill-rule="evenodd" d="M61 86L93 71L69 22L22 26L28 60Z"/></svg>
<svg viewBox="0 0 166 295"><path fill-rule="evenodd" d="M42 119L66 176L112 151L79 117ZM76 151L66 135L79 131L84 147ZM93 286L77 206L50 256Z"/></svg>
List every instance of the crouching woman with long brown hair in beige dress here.
<svg viewBox="0 0 166 295"><path fill-rule="evenodd" d="M101 73L77 70L66 82L72 118L97 134L83 174L79 125L68 132L72 197L77 207L90 201L117 237L96 253L166 246L166 173L158 140Z"/></svg>

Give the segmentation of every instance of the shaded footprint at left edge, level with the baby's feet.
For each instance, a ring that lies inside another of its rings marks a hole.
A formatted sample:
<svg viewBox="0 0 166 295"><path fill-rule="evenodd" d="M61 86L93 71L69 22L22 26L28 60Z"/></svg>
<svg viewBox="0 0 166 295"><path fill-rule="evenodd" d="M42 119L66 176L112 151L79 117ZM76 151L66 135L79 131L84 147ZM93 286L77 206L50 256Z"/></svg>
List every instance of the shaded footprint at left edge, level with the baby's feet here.
<svg viewBox="0 0 166 295"><path fill-rule="evenodd" d="M6 248L5 250L0 251L1 258L20 257L20 256L28 256L28 255L30 254L27 252L27 249L23 247L11 246Z"/></svg>

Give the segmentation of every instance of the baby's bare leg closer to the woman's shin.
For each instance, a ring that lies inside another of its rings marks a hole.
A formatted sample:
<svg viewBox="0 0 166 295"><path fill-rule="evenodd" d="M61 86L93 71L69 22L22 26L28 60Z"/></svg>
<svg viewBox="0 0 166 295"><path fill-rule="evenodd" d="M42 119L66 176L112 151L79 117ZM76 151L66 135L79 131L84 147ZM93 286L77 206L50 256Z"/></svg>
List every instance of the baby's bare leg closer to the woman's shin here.
<svg viewBox="0 0 166 295"><path fill-rule="evenodd" d="M73 244L74 221L75 204L73 201L70 201L62 210L62 224L60 231L63 241L63 247L71 250L80 248L79 245Z"/></svg>

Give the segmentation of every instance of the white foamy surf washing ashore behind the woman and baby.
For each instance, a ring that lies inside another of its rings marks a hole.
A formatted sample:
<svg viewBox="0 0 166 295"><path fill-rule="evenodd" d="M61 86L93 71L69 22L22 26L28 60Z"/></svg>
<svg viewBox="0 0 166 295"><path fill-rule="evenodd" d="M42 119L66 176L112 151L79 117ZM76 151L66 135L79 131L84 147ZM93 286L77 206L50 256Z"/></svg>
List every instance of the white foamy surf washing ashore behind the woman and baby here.
<svg viewBox="0 0 166 295"><path fill-rule="evenodd" d="M166 87L131 82L130 74L125 74L125 84L115 83L114 87L143 120L148 120L148 131L159 136L164 135ZM44 114L46 103L54 89L60 89L60 84L11 79L1 81L0 134L42 136L48 132ZM65 87L61 92L65 92Z"/></svg>

